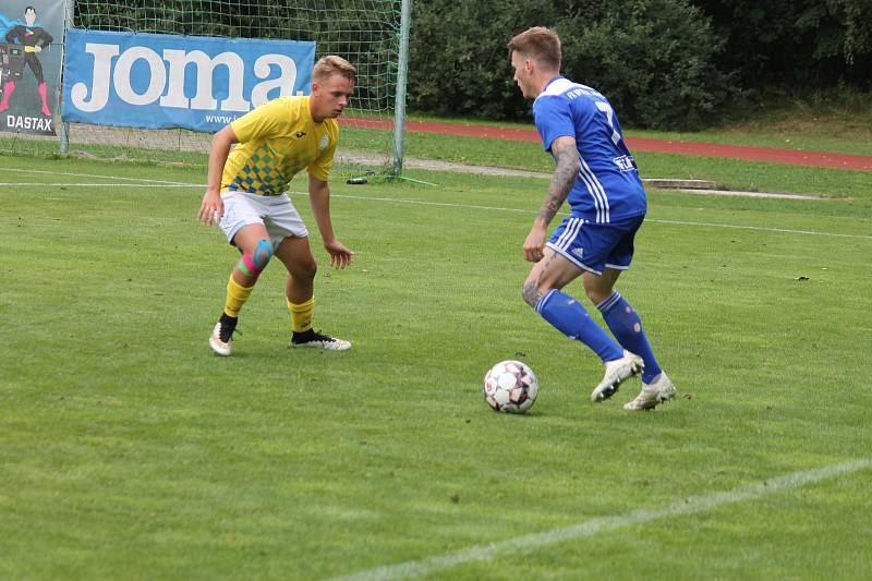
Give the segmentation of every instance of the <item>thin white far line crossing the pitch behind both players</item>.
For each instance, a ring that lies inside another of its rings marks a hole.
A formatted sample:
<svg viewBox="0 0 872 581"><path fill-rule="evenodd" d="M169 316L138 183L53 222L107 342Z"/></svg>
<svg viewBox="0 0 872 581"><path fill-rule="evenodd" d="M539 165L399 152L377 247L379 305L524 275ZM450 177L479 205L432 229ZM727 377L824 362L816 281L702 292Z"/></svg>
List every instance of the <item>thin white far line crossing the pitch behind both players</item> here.
<svg viewBox="0 0 872 581"><path fill-rule="evenodd" d="M41 171L41 170L28 170L28 169L20 169L20 168L10 168L10 167L0 167L0 170L10 170L10 171L19 171L22 173L40 173L40 174L51 174L51 175L68 175L68 177L75 177L75 178L97 178L97 179L108 179L108 180L124 180L131 182L140 182L140 183L130 183L130 184L122 184L122 183L71 183L71 184L56 184L56 183L0 183L0 186L9 187L15 185L26 185L26 186L38 186L38 185L47 185L47 186L70 186L70 187L86 187L86 186L113 186L113 187L122 187L122 186L131 186L131 187L157 187L158 185L147 185L147 184L165 184L167 187L206 187L204 184L198 183L184 183L184 182L175 182L175 181L166 181L166 180L147 180L141 178L121 178L118 175L95 175L88 173L69 173L69 172L53 172L53 171ZM307 196L308 193L306 192L289 192L292 195L305 195ZM371 201L371 202L387 202L393 204L414 204L414 205L422 205L422 206L439 206L439 207L448 207L448 208L461 208L461 209L483 209L483 210L494 210L494 211L511 211L517 214L534 214L534 210L528 209L519 209L519 208L507 208L500 206L479 206L479 205L471 205L471 204L451 204L448 202L428 202L423 199L398 199L391 197L374 197L374 196L356 196L350 194L336 194L331 193L330 197L341 197L347 199L362 199L362 201ZM560 216L566 216L566 213L560 213ZM791 230L788 228L766 228L762 226L741 226L741 225L730 225L730 223L713 223L713 222L694 222L694 221L683 221L683 220L663 220L657 218L645 218L645 221L655 222L655 223L671 223L676 226L695 226L702 228L728 228L734 230L754 230L759 232L779 232L785 234L802 234L802 235L816 235L816 237L831 237L831 238L852 238L852 239L860 239L860 240L872 240L872 235L865 234L841 234L838 232L816 232L813 230Z"/></svg>

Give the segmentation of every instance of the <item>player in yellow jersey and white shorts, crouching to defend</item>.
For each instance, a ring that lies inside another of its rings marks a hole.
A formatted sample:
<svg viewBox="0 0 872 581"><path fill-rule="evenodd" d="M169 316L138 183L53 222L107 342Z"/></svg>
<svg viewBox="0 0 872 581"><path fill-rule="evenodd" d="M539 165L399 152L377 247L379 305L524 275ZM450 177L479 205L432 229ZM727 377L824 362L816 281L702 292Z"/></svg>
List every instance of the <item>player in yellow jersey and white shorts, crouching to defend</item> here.
<svg viewBox="0 0 872 581"><path fill-rule="evenodd" d="M349 341L312 328L317 265L308 231L286 191L299 172L308 173L308 198L330 264L344 268L354 253L334 234L330 220L330 172L339 137L336 118L354 93L355 69L340 57L324 57L312 72L312 94L279 97L233 121L215 134L209 154L208 185L197 218L218 221L242 257L230 274L221 318L209 337L219 355L232 352L240 308L272 255L288 269L286 298L291 316L291 344L344 350ZM239 144L230 152L232 144Z"/></svg>

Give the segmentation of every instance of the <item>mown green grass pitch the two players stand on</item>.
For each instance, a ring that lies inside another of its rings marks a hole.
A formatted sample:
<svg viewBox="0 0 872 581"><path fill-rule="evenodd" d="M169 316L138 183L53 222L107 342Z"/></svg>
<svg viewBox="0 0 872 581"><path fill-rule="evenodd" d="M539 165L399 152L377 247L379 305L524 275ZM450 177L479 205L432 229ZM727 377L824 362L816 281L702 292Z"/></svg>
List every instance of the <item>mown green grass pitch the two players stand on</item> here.
<svg viewBox="0 0 872 581"><path fill-rule="evenodd" d="M276 263L221 359L202 168L0 166L0 578L872 577L857 173L818 189L851 199L651 193L619 289L679 398L628 413L638 380L592 404L596 358L521 300L543 180L337 181L356 254L332 270L314 235L315 326L353 349L288 348ZM496 414L482 377L516 358L538 401Z"/></svg>

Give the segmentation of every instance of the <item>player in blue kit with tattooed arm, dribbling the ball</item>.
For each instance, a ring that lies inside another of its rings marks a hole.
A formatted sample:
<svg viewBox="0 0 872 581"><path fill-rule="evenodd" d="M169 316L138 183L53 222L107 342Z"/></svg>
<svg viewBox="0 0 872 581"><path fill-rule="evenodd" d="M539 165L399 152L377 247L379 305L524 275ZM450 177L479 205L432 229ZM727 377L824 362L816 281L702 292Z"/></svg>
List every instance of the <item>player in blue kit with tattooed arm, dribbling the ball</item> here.
<svg viewBox="0 0 872 581"><path fill-rule="evenodd" d="M514 82L525 98L535 99L536 129L555 160L548 195L523 245L524 258L535 263L524 281L524 301L603 360L605 376L591 394L593 401L610 398L641 372L642 391L623 408L653 409L673 399L676 388L657 363L639 314L615 290L630 266L646 210L635 160L608 100L560 75L560 39L554 31L530 28L508 48ZM571 214L546 242L548 225L567 199ZM617 341L562 292L579 276Z"/></svg>

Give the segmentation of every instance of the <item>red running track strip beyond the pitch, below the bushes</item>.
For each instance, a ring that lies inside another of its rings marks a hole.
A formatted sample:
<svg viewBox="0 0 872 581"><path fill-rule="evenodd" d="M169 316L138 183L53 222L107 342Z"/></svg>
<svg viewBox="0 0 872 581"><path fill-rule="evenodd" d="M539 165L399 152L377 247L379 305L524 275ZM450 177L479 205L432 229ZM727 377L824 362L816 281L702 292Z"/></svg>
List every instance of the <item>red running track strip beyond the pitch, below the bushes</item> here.
<svg viewBox="0 0 872 581"><path fill-rule="evenodd" d="M351 125L372 129L390 129L392 126L390 121L378 119L348 119L348 122ZM486 125L468 125L463 123L407 121L405 130L421 133L439 133L443 135L489 137L493 140L521 142L540 141L538 133L533 129L502 129ZM778 149L776 147L720 145L716 143L652 140L649 137L627 137L627 146L631 150L639 152L728 157L734 159L750 159L752 161L773 161L776 164L794 164L819 168L872 171L872 156L863 155L798 152L792 149Z"/></svg>

